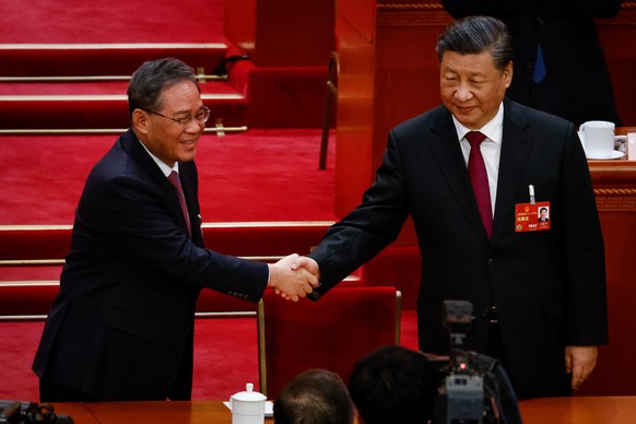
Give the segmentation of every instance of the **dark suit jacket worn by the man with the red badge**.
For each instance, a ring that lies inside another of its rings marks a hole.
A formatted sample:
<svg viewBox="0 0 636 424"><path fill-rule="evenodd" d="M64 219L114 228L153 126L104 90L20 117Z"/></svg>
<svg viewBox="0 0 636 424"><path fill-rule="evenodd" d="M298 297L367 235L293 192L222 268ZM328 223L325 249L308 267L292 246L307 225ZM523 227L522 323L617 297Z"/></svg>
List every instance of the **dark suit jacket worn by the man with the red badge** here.
<svg viewBox="0 0 636 424"><path fill-rule="evenodd" d="M550 231L515 232L515 204L529 202L529 185L551 204ZM513 381L529 397L563 389L565 345L608 341L603 239L572 123L504 101L490 242L450 113L439 106L394 128L362 204L309 255L322 274L315 296L394 240L408 215L422 252L421 350L448 352L440 306L459 298L476 315L467 348L485 352L482 311L496 306Z"/></svg>

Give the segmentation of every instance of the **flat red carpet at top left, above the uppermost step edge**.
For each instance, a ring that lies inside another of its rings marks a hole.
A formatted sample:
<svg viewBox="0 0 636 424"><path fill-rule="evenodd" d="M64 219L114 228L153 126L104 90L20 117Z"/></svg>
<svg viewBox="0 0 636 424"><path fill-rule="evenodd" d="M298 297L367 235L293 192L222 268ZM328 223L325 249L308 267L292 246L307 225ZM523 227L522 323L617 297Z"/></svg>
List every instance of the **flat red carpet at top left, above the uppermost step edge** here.
<svg viewBox="0 0 636 424"><path fill-rule="evenodd" d="M211 43L223 40L223 0L4 2L2 43Z"/></svg>

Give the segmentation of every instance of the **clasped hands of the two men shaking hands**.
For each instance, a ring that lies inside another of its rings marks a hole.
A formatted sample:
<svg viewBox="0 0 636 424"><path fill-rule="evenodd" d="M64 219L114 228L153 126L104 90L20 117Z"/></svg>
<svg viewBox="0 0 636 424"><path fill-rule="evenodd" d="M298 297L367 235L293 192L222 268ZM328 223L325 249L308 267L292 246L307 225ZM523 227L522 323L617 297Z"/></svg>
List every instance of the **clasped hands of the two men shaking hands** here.
<svg viewBox="0 0 636 424"><path fill-rule="evenodd" d="M320 285L318 263L296 254L284 257L276 263L270 263L268 287L287 301L298 302Z"/></svg>

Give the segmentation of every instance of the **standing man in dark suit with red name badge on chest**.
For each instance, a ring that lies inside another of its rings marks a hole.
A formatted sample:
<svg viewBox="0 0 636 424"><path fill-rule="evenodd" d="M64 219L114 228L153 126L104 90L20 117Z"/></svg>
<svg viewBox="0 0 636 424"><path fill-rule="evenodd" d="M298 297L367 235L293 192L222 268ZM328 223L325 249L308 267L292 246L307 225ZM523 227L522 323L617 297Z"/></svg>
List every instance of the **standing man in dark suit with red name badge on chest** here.
<svg viewBox="0 0 636 424"><path fill-rule="evenodd" d="M321 296L411 215L422 254L420 349L448 353L443 302L470 301L467 349L499 358L520 397L569 394L608 341L603 239L576 128L505 98L513 48L500 21L456 21L437 54L444 105L390 131L362 203L295 266L320 274L310 297ZM476 130L486 139L473 150ZM467 170L472 153L483 156L485 196L471 187L480 181ZM547 203L550 226L525 224Z"/></svg>

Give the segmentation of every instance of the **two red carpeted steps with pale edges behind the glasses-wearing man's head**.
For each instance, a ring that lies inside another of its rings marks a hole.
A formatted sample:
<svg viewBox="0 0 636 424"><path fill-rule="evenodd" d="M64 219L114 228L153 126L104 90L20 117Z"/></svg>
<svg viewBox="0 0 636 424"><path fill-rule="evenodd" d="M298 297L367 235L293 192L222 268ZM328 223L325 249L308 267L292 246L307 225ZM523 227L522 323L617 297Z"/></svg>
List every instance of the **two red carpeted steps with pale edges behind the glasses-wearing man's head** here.
<svg viewBox="0 0 636 424"><path fill-rule="evenodd" d="M227 45L10 44L0 45L2 133L107 132L128 128L126 90L146 61L177 57L197 72L212 131L245 130L245 87L213 71Z"/></svg>

